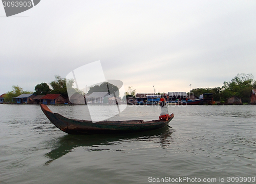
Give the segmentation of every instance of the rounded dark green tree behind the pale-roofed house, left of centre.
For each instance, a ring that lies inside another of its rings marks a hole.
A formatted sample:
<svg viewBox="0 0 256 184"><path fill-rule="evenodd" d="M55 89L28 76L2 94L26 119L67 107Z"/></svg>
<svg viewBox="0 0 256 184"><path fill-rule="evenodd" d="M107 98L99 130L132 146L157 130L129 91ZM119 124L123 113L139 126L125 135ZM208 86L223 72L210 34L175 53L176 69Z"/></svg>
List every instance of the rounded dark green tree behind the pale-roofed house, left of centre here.
<svg viewBox="0 0 256 184"><path fill-rule="evenodd" d="M92 94L93 92L108 92L108 86L109 86L110 94L116 93L117 97L119 97L118 87L112 83L108 83L108 85L107 85L106 82L103 82L100 85L95 85L95 86L90 87L88 94Z"/></svg>

